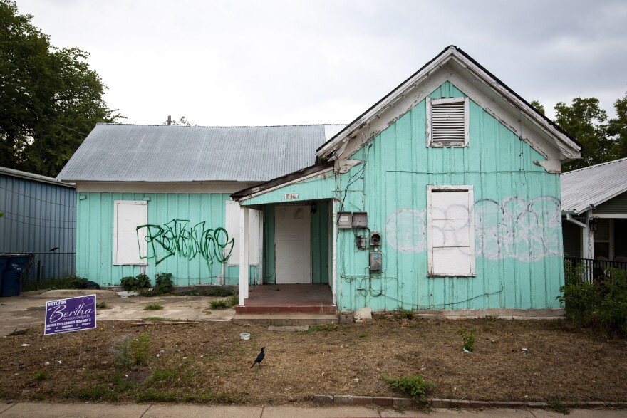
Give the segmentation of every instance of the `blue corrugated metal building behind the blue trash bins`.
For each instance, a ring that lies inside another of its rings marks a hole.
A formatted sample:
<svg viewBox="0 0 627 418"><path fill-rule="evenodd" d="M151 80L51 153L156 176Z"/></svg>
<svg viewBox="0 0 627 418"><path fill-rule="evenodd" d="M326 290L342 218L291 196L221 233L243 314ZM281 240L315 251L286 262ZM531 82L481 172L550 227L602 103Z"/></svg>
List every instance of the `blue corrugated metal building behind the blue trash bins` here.
<svg viewBox="0 0 627 418"><path fill-rule="evenodd" d="M74 274L73 184L0 167L0 253L33 254L26 280Z"/></svg>

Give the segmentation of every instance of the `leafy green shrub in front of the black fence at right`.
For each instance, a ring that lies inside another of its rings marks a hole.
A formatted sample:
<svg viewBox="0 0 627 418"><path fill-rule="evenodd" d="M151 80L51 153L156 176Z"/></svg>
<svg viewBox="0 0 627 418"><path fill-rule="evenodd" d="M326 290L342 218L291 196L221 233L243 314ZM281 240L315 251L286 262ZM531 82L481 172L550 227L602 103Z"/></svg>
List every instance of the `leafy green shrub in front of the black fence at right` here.
<svg viewBox="0 0 627 418"><path fill-rule="evenodd" d="M596 283L569 281L561 292L557 299L574 324L627 335L627 271L610 268Z"/></svg>

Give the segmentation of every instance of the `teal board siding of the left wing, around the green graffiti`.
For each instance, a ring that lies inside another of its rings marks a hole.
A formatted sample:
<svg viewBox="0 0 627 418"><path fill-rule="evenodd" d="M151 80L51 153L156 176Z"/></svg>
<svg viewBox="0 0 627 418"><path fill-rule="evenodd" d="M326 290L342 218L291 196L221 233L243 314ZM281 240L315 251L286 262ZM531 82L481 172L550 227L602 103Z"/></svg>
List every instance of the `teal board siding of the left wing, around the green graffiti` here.
<svg viewBox="0 0 627 418"><path fill-rule="evenodd" d="M86 199L78 199L77 223L79 225L76 245L76 274L101 285L115 285L125 276L136 276L140 266L113 266L113 206L115 200L145 200L148 207L148 224L160 225L172 220L180 222L185 229L204 222L204 229L224 228L225 202L229 194L159 194L159 193L81 193ZM83 227L81 227L83 226ZM186 236L186 234L182 234ZM167 240L166 240L167 241ZM173 241L170 241L170 245ZM190 240L178 241L180 249L160 263L157 260L168 251L155 246L156 258L148 260L146 274L154 283L155 273L172 273L176 286L220 282L222 263L207 262L201 253L192 251L182 256L181 251L190 245ZM150 250L149 250L150 252ZM153 255L153 254L150 254ZM237 260L238 254L232 254ZM239 283L239 267L225 266L225 283ZM251 266L251 283L258 278L257 266Z"/></svg>

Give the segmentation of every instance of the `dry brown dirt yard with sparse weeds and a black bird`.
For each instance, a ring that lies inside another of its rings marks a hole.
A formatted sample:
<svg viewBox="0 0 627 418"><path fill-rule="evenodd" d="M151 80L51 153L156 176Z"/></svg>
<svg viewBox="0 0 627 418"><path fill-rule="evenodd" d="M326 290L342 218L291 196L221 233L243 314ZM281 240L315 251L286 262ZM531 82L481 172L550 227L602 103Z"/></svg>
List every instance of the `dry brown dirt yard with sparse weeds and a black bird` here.
<svg viewBox="0 0 627 418"><path fill-rule="evenodd" d="M462 351L462 327L477 327L470 354ZM241 340L242 332L250 340ZM128 356L120 354L125 335ZM261 346L266 358L251 368ZM135 365L136 356L145 363ZM130 370L116 358L130 361ZM306 333L232 323L101 321L95 330L48 337L39 326L0 339L0 370L0 399L21 401L276 405L309 402L314 394L398 396L382 373L421 373L437 385L431 397L627 400L627 340L574 330L564 320L390 316Z"/></svg>

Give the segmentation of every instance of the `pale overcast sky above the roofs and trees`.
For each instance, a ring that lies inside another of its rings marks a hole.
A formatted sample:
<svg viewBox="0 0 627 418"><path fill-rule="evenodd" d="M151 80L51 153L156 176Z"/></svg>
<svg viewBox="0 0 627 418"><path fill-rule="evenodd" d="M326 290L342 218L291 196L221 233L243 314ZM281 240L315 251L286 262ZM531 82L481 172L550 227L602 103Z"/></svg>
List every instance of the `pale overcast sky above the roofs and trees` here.
<svg viewBox="0 0 627 418"><path fill-rule="evenodd" d="M123 122L348 123L451 44L524 99L627 90L627 1L17 0Z"/></svg>

